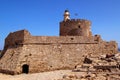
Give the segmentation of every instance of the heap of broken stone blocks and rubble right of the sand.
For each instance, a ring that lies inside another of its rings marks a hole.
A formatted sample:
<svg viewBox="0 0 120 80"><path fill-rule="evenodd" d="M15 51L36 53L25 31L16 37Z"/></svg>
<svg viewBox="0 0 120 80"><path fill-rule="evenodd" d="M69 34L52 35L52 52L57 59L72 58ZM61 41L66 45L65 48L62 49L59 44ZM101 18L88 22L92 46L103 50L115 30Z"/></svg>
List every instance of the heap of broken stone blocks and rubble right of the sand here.
<svg viewBox="0 0 120 80"><path fill-rule="evenodd" d="M58 80L120 80L120 53L111 55L85 58L83 65L76 66L72 74Z"/></svg>

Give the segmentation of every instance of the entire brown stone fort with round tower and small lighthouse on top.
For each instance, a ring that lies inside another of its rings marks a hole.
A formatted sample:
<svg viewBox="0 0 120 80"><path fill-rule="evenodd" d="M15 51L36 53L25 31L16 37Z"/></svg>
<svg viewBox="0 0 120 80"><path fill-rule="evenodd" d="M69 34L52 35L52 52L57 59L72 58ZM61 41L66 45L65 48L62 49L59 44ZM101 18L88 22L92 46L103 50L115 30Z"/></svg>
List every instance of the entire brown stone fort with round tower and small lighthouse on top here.
<svg viewBox="0 0 120 80"><path fill-rule="evenodd" d="M70 19L68 10L60 22L60 36L32 36L27 30L10 33L0 55L0 72L8 74L36 73L73 69L86 56L115 54L115 41L106 42L92 35L91 22Z"/></svg>

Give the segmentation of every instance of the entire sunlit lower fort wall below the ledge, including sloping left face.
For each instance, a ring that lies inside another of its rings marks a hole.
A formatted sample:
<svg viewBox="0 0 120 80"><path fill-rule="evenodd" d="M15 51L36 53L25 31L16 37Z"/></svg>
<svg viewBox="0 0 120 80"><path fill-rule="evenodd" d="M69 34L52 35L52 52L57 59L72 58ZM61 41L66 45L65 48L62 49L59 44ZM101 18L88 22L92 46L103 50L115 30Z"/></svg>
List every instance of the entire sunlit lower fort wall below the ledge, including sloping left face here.
<svg viewBox="0 0 120 80"><path fill-rule="evenodd" d="M105 44L109 45L106 50ZM30 73L73 69L76 65L83 63L85 56L105 55L110 52L110 49L115 51L112 45L115 46L115 42L23 44L21 47L7 49L6 54L0 60L0 71L22 73L24 64L29 66Z"/></svg>

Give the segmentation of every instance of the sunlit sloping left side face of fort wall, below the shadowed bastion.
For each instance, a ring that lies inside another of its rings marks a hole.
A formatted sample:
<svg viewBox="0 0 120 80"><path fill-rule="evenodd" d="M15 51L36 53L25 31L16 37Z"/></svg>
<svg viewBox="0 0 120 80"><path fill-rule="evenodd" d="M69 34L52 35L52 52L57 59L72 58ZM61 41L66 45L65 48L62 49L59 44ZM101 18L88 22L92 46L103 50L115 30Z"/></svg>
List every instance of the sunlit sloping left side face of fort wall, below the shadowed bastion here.
<svg viewBox="0 0 120 80"><path fill-rule="evenodd" d="M6 74L17 74L16 66L19 55L22 53L22 47L9 47L5 51L4 56L0 58L0 72Z"/></svg>

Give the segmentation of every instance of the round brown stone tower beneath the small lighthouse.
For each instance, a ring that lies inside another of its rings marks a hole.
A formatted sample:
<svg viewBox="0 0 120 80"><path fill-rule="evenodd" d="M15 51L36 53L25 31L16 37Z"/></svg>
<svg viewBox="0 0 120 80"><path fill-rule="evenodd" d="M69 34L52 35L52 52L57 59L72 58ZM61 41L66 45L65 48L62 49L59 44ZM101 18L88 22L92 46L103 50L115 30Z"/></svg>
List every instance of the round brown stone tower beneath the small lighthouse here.
<svg viewBox="0 0 120 80"><path fill-rule="evenodd" d="M60 36L92 36L91 22L83 19L71 19L60 22Z"/></svg>

